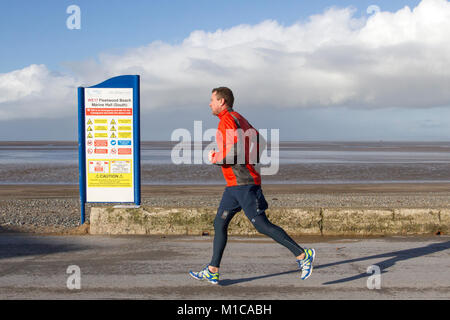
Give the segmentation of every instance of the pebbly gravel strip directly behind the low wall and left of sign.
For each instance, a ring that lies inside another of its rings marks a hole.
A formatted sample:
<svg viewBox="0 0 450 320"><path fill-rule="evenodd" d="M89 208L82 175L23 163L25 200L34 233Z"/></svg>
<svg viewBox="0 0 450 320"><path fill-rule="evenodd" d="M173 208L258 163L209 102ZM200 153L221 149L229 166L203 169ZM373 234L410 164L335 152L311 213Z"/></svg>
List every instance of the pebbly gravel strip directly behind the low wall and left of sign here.
<svg viewBox="0 0 450 320"><path fill-rule="evenodd" d="M269 207L297 208L450 208L450 193L408 194L266 194ZM180 195L144 198L143 206L211 207L219 205L217 196ZM99 204L92 204L98 206ZM105 204L107 205L107 204ZM86 220L89 221L87 204ZM0 232L64 232L79 226L78 198L40 198L0 200Z"/></svg>

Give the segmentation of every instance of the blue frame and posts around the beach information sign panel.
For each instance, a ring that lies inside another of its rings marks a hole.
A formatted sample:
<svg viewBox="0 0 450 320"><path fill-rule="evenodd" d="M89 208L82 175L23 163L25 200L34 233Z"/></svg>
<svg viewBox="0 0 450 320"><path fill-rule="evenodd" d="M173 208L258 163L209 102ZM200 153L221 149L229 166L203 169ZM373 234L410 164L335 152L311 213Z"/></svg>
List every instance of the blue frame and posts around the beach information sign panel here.
<svg viewBox="0 0 450 320"><path fill-rule="evenodd" d="M140 76L124 75L110 78L87 88L133 89L133 172L134 204L141 204L141 130L140 130ZM85 87L78 87L78 166L80 183L81 224L85 222L86 204L86 139L85 139Z"/></svg>

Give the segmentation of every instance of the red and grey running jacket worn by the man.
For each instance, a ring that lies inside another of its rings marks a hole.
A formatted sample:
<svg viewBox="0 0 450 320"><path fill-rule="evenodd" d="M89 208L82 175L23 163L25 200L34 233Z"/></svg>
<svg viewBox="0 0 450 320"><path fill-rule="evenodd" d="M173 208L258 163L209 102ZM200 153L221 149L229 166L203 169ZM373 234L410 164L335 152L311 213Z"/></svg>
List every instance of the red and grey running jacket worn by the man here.
<svg viewBox="0 0 450 320"><path fill-rule="evenodd" d="M216 133L218 152L212 154L212 163L221 165L227 186L261 184L261 175L255 168L263 149L264 139L248 121L233 109L218 114Z"/></svg>

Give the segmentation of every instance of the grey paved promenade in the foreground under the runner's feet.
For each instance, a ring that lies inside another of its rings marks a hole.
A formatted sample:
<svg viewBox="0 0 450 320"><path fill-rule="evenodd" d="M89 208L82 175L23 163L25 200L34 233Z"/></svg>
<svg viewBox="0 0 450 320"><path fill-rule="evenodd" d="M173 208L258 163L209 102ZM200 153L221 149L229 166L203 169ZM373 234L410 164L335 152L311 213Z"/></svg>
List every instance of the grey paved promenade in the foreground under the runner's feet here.
<svg viewBox="0 0 450 320"><path fill-rule="evenodd" d="M209 262L208 236L1 234L0 299L450 298L450 236L299 238L317 251L306 281L271 239L229 239L214 286L188 275Z"/></svg>

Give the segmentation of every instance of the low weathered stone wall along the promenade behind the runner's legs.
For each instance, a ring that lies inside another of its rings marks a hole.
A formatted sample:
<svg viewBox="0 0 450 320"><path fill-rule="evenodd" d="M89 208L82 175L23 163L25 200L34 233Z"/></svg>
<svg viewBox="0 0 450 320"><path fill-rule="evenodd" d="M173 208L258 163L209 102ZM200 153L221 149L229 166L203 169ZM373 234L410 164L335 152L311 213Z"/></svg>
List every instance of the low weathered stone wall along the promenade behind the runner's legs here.
<svg viewBox="0 0 450 320"><path fill-rule="evenodd" d="M90 234L212 235L212 207L139 207L90 209ZM394 208L273 208L266 211L274 224L292 236L380 236L448 234L450 209ZM230 235L258 232L242 213L229 226Z"/></svg>

